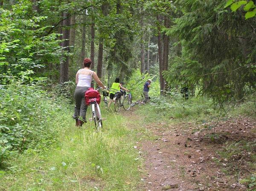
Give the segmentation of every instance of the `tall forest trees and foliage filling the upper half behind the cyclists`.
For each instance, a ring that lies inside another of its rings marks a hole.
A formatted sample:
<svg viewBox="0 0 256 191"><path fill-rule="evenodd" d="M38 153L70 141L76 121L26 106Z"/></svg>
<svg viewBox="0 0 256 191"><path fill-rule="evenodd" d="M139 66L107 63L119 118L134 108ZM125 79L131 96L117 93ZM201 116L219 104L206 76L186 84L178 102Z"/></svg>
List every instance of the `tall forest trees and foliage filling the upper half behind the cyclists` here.
<svg viewBox="0 0 256 191"><path fill-rule="evenodd" d="M219 103L242 101L253 93L256 62L255 5L246 3L2 0L1 82L74 81L90 57L108 86L140 70L162 94L186 86Z"/></svg>

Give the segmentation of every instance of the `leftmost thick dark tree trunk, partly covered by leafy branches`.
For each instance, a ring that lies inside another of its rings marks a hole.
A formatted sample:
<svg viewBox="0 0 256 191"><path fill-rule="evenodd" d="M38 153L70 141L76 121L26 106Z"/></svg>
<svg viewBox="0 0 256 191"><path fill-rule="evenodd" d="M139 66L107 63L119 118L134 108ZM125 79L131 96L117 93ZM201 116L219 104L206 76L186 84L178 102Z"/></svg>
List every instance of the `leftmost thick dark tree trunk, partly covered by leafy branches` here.
<svg viewBox="0 0 256 191"><path fill-rule="evenodd" d="M68 17L67 13L63 14L64 17ZM63 21L63 26L70 25L70 18ZM70 37L70 29L63 29L63 39L64 42L62 43L63 47L66 47L64 50L69 51L69 37ZM69 66L69 57L65 56L65 60L61 62L61 69L60 69L60 83L64 83L68 81L68 66Z"/></svg>

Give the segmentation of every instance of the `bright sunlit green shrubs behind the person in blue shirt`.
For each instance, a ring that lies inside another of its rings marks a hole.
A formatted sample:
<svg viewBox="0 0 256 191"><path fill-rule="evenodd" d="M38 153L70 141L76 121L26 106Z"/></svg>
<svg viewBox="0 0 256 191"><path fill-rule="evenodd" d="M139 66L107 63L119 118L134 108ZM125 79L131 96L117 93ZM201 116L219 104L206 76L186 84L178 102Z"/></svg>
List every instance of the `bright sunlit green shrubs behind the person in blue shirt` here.
<svg viewBox="0 0 256 191"><path fill-rule="evenodd" d="M140 98L140 95L143 94L144 84L148 79L153 80L149 88L150 97L158 97L160 95L160 82L159 78L156 76L151 76L150 74L140 74L140 69L134 70L129 78L125 87L131 90L132 99Z"/></svg>

